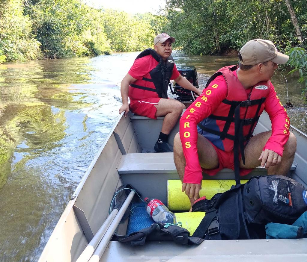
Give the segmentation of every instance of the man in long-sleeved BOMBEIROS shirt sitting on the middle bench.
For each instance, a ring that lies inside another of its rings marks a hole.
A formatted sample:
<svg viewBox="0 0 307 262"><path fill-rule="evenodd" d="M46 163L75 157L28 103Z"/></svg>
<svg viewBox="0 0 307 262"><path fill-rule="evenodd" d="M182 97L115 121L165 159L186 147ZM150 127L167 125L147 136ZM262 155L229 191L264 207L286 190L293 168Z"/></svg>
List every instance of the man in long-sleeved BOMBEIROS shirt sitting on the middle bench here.
<svg viewBox="0 0 307 262"><path fill-rule="evenodd" d="M231 168L236 183L239 175L260 165L269 175L288 174L296 137L289 131L289 116L270 82L278 64L288 59L271 41L247 42L239 52L239 65L212 75L181 117L174 161L191 205L199 198L202 171L215 175ZM272 131L252 136L263 110L270 116Z"/></svg>

